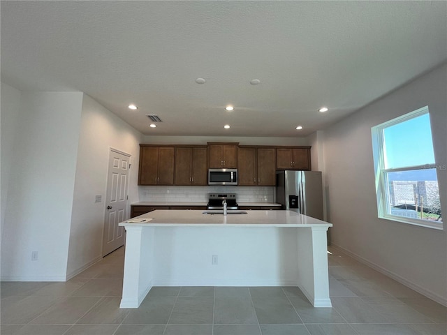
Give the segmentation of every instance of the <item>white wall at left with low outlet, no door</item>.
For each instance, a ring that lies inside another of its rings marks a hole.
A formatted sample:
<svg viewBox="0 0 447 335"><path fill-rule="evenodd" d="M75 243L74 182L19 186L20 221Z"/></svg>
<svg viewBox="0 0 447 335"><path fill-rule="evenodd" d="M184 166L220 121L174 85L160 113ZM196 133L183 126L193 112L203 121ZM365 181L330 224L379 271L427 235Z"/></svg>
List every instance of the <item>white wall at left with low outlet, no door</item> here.
<svg viewBox="0 0 447 335"><path fill-rule="evenodd" d="M82 94L2 91L13 101L10 167L1 243L1 279L64 281ZM2 106L3 107L3 106ZM2 120L2 121L7 121ZM2 151L3 155L3 151ZM10 161L9 161L10 160ZM3 162L2 162L3 164ZM2 189L3 191L3 189ZM38 260L31 261L31 252Z"/></svg>

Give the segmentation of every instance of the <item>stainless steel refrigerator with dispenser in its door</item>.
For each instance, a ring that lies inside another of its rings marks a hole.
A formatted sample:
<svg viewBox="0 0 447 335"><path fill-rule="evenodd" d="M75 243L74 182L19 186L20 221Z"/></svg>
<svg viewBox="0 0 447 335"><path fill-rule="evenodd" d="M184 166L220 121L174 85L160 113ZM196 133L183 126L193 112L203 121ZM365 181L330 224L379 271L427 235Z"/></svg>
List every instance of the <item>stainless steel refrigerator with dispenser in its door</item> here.
<svg viewBox="0 0 447 335"><path fill-rule="evenodd" d="M283 209L323 220L323 185L320 171L278 171L277 202Z"/></svg>

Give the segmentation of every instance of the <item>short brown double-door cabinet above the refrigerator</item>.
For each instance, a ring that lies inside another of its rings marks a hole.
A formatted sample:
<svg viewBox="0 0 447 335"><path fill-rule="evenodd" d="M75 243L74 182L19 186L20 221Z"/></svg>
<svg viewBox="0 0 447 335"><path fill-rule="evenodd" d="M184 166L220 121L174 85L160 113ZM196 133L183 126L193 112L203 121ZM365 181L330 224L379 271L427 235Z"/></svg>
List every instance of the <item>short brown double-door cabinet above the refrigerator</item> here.
<svg viewBox="0 0 447 335"><path fill-rule="evenodd" d="M311 170L310 147L277 148L278 170Z"/></svg>

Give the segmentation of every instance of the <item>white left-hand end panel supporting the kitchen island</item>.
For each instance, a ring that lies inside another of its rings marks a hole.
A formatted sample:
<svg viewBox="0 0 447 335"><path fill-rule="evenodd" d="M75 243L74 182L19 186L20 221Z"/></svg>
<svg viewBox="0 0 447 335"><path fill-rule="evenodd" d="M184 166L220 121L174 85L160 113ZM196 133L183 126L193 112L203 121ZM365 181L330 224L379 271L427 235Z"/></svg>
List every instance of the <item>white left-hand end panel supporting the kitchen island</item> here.
<svg viewBox="0 0 447 335"><path fill-rule="evenodd" d="M138 308L152 288L154 227L126 226L123 295L120 308Z"/></svg>

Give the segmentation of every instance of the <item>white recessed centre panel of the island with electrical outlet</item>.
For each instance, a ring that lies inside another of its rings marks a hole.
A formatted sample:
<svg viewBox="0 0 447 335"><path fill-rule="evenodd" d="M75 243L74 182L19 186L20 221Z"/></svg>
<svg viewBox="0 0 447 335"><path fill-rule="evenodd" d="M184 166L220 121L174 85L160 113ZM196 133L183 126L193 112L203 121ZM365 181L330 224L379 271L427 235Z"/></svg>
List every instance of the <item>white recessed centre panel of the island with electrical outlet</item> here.
<svg viewBox="0 0 447 335"><path fill-rule="evenodd" d="M296 285L295 229L156 227L153 285Z"/></svg>

